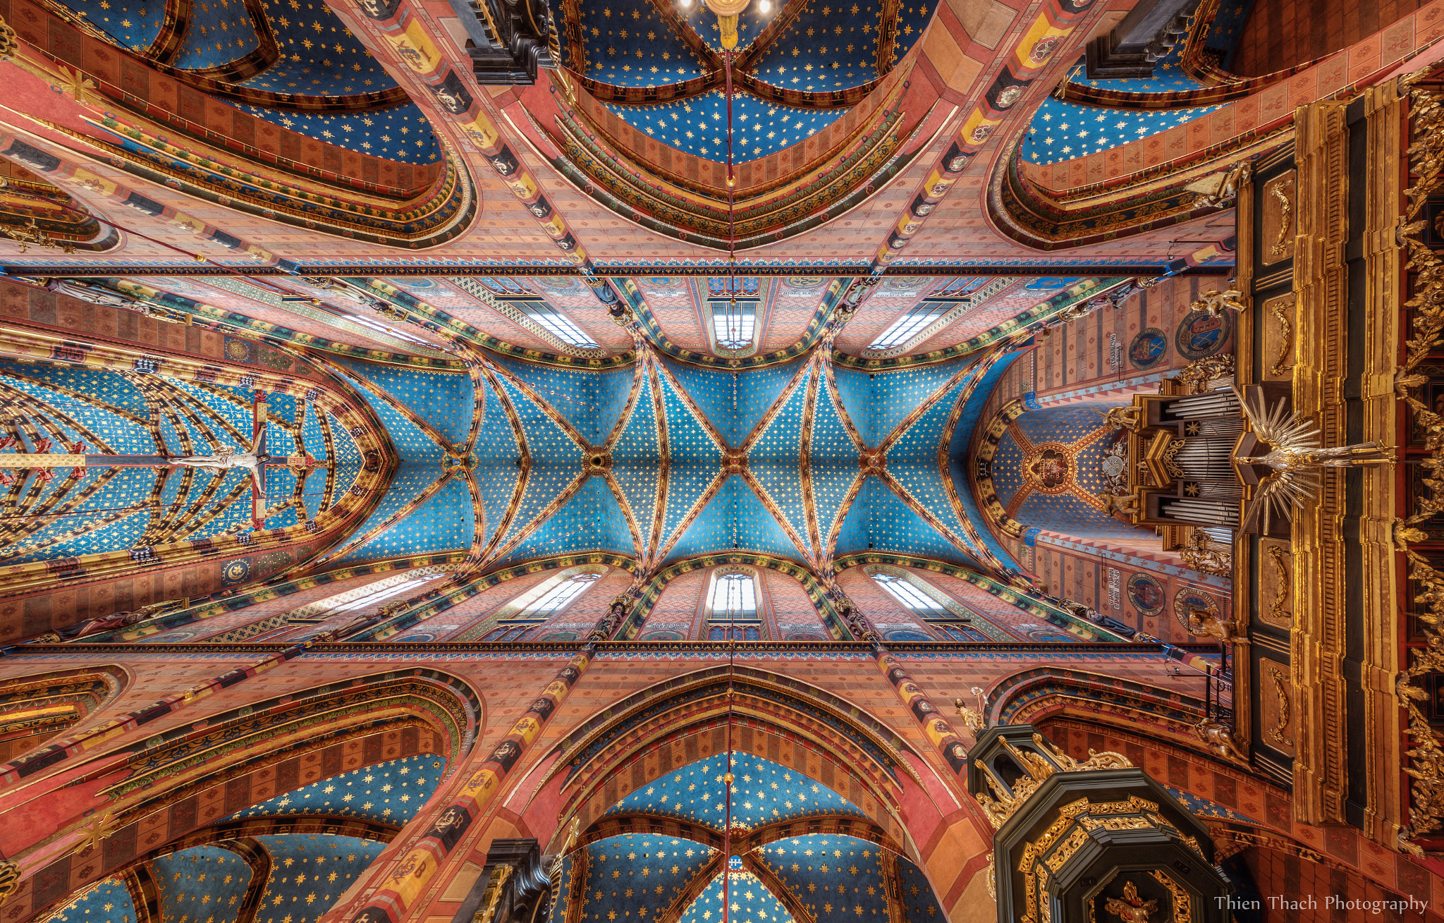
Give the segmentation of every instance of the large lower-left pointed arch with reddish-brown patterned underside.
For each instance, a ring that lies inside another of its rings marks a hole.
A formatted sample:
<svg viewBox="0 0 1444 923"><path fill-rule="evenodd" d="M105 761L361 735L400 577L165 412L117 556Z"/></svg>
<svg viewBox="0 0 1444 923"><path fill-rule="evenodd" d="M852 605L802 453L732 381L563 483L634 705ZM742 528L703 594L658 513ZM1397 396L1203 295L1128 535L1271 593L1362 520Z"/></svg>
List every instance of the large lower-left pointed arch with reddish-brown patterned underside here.
<svg viewBox="0 0 1444 923"><path fill-rule="evenodd" d="M377 673L336 686L253 702L78 764L62 758L25 774L22 757L20 783L0 815L7 831L29 832L10 841L10 858L23 870L7 901L19 907L13 913L42 914L221 818L342 770L433 753L446 760L449 777L485 725L481 696L438 670ZM318 816L315 823L342 819ZM27 864L32 855L45 858Z"/></svg>

